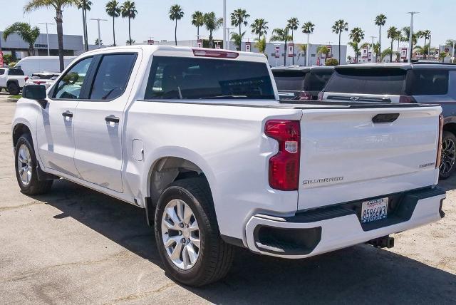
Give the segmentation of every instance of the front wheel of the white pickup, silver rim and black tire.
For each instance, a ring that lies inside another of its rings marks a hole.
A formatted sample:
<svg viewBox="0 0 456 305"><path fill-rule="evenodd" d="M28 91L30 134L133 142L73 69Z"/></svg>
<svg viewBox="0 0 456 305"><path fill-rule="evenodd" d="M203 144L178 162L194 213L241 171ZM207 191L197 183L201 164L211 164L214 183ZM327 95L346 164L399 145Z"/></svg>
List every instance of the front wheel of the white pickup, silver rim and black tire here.
<svg viewBox="0 0 456 305"><path fill-rule="evenodd" d="M36 162L36 155L32 143L33 141L29 134L21 135L21 138L17 141L16 149L14 151L16 179L24 194L41 195L51 190L53 180L38 180L37 167L39 167L39 165L38 162ZM21 159L19 159L19 157L21 157ZM27 170L25 171L24 168L27 168ZM23 175L20 173L21 170ZM26 175L24 175L24 172Z"/></svg>

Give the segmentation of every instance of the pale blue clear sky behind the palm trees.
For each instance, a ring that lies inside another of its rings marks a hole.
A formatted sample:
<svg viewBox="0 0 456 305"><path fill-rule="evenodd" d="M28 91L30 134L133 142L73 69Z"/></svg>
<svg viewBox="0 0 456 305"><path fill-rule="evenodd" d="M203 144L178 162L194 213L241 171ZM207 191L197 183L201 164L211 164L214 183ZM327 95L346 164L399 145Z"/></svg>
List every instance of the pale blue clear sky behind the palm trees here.
<svg viewBox="0 0 456 305"><path fill-rule="evenodd" d="M105 13L105 4L108 0L91 0L93 6L88 13L88 19L108 19L101 23L101 38L105 45L113 43L112 19ZM122 2L123 0L119 0ZM38 22L54 22L55 11L51 9L40 9L30 14L23 14L26 0L0 0L0 7L3 9L0 14L0 31L16 21L24 21L33 26L40 26L41 32L45 33L46 28ZM185 16L177 24L177 39L195 39L197 30L191 24L191 16L194 11L214 11L217 16L222 17L222 0L136 0L138 16L132 21L132 38L136 42L146 41L148 38L159 41L166 39L174 40L174 22L169 19L168 11L172 4L180 4ZM227 11L234 9L246 9L251 15L249 21L263 18L269 22L270 36L272 29L284 28L286 20L296 17L304 24L311 21L315 24L314 35L311 36L311 43L338 43L338 36L332 33L331 26L337 19L344 19L348 22L348 28L359 26L365 32L365 41L371 42L371 36L379 36L378 26L375 26L374 19L378 14L385 14L387 21L385 29L382 30L382 49L389 46L386 37L386 30L390 26L402 28L410 25L408 11L419 11L415 15L414 29L429 29L432 32L432 45L438 46L445 43L448 38L456 38L453 22L455 18L455 0L383 0L383 1L362 1L362 0L227 0ZM5 14L7 11L7 14ZM128 19L118 18L115 20L116 40L118 44L125 44L128 39ZM201 29L202 35L208 35L205 29ZM56 33L55 26L50 27L50 33ZM63 11L63 33L82 35L82 13L76 8L67 8ZM214 33L218 39L222 38L222 30ZM247 31L246 38L255 38L255 35ZM88 21L88 40L95 43L98 38L96 21ZM377 41L378 38L375 38ZM305 35L299 31L294 38L296 43L304 43ZM348 33L343 33L341 43L346 44ZM424 40L418 41L423 45ZM350 54L351 48L348 53Z"/></svg>

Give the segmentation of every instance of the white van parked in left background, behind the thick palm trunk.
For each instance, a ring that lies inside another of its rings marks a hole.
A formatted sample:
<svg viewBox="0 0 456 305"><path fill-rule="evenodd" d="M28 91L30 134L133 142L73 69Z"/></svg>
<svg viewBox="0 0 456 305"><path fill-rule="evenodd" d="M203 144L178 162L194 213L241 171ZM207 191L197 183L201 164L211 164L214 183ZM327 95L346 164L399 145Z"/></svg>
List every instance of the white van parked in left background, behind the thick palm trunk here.
<svg viewBox="0 0 456 305"><path fill-rule="evenodd" d="M76 58L75 56L64 56L63 66L68 65ZM16 63L15 68L21 68L26 76L42 71L58 72L60 71L60 61L58 56L27 56Z"/></svg>

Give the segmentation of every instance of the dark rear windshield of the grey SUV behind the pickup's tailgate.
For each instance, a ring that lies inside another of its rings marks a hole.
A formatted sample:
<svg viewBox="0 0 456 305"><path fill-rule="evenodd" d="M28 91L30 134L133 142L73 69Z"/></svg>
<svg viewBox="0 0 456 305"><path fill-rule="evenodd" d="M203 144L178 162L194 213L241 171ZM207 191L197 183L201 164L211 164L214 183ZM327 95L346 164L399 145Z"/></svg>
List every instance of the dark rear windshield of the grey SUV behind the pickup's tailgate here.
<svg viewBox="0 0 456 305"><path fill-rule="evenodd" d="M400 68L343 68L334 72L325 91L403 95L406 72Z"/></svg>

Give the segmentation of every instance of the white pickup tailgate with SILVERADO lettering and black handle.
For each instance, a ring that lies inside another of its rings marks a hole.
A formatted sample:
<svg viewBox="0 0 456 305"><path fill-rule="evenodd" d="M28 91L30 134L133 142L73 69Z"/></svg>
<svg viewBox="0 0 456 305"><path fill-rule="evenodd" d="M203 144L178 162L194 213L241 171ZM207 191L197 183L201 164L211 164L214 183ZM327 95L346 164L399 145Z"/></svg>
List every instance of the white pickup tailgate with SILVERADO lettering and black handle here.
<svg viewBox="0 0 456 305"><path fill-rule="evenodd" d="M435 185L441 110L303 110L298 210Z"/></svg>

